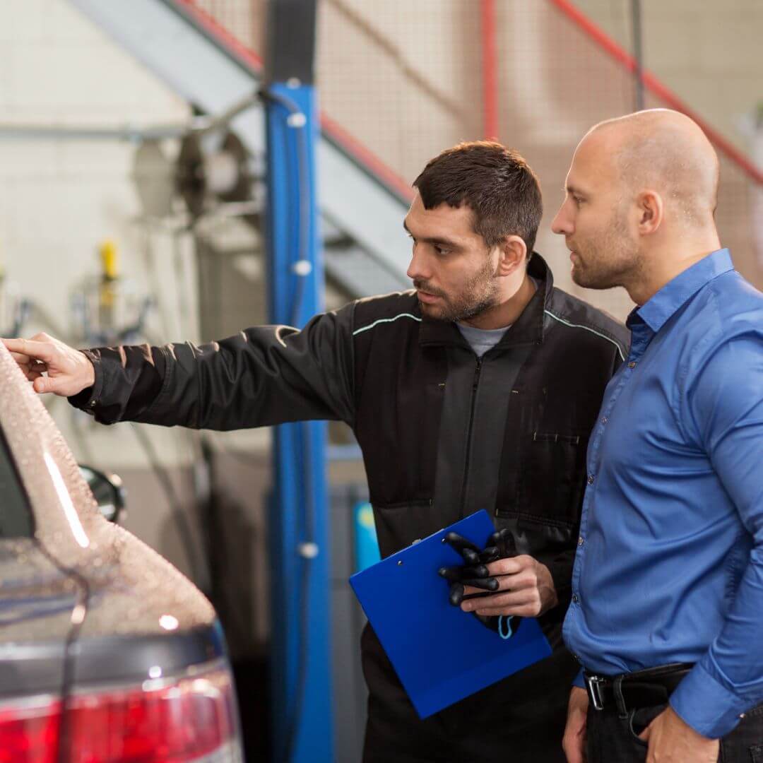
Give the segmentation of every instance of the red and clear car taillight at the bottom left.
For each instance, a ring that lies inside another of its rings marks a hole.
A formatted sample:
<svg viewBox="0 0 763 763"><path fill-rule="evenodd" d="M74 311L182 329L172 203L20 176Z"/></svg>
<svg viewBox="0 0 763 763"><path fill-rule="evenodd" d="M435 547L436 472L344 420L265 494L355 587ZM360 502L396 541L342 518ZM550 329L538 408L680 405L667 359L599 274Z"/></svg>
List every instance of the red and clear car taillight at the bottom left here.
<svg viewBox="0 0 763 763"><path fill-rule="evenodd" d="M5 755L6 726L0 715L2 763L53 763L60 706L51 705L50 710L47 723L53 731L45 739L47 726L40 715L31 726L21 715L13 721L15 726L8 726L15 756ZM194 671L171 681L144 681L140 687L77 691L67 703L66 729L61 732L68 763L190 763L200 758L204 763L233 763L243 757L233 684L225 668Z"/></svg>

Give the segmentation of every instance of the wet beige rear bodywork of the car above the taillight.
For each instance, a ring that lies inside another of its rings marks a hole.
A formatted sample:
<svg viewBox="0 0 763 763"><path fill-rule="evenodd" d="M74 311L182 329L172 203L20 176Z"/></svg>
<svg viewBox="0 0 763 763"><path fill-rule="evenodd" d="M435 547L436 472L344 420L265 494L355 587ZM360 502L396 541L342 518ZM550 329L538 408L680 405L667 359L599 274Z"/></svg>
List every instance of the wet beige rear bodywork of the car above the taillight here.
<svg viewBox="0 0 763 763"><path fill-rule="evenodd" d="M101 516L66 441L2 343L0 385L0 427L34 515L34 539L0 539L0 694L18 691L11 678L24 673L24 654L29 664L34 654L47 655L49 678L60 674L72 624L78 629L72 676L89 683L223 654L204 595Z"/></svg>

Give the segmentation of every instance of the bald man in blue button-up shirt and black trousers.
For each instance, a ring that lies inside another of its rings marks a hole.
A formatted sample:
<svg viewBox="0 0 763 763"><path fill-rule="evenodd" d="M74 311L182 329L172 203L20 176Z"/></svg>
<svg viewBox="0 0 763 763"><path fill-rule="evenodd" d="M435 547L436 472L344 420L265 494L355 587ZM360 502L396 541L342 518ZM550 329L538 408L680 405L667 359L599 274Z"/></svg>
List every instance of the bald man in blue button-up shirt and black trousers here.
<svg viewBox="0 0 763 763"><path fill-rule="evenodd" d="M576 283L637 305L588 447L569 763L763 761L763 295L717 187L697 124L641 111L584 137L552 224Z"/></svg>

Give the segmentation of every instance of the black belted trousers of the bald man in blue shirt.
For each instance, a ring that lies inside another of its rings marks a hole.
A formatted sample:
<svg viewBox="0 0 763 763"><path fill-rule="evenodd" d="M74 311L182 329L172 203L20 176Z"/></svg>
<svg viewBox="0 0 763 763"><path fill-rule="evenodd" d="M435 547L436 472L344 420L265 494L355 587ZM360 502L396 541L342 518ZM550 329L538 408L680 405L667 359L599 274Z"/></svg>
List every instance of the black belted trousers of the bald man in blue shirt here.
<svg viewBox="0 0 763 763"><path fill-rule="evenodd" d="M639 734L667 704L630 710L621 718L617 709L588 707L586 763L644 763L646 742ZM763 705L745 714L728 736L720 740L719 763L763 763Z"/></svg>

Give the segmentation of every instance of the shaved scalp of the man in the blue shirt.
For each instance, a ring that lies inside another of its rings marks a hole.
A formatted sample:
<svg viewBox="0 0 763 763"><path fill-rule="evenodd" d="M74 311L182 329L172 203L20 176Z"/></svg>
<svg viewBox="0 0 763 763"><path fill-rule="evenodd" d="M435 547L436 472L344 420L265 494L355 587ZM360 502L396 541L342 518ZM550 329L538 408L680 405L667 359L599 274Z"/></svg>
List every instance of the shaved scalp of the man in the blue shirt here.
<svg viewBox="0 0 763 763"><path fill-rule="evenodd" d="M658 192L674 220L690 226L712 220L718 156L685 114L655 108L610 119L592 127L580 147L591 142L613 158L617 181L633 194Z"/></svg>

